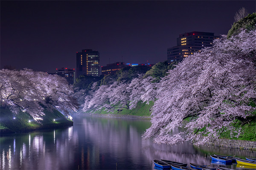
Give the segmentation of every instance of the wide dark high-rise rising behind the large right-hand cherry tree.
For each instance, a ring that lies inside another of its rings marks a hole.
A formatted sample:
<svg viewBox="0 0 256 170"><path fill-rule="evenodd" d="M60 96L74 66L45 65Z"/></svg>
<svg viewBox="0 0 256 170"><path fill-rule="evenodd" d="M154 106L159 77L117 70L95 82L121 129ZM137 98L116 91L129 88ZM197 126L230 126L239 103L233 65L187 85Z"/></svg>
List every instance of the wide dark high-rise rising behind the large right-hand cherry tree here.
<svg viewBox="0 0 256 170"><path fill-rule="evenodd" d="M211 32L193 31L180 34L177 38L177 46L167 48L167 60L169 62L180 61L204 47L211 46L213 40L218 38L219 36Z"/></svg>

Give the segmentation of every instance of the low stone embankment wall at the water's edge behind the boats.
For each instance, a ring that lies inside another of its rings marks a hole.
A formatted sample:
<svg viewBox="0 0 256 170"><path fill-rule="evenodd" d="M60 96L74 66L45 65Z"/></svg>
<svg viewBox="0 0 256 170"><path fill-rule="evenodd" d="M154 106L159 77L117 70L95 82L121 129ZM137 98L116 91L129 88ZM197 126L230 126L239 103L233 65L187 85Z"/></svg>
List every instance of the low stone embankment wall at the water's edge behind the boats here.
<svg viewBox="0 0 256 170"><path fill-rule="evenodd" d="M231 147L237 149L256 150L256 141L242 141L233 139L218 139L211 145L219 147Z"/></svg>

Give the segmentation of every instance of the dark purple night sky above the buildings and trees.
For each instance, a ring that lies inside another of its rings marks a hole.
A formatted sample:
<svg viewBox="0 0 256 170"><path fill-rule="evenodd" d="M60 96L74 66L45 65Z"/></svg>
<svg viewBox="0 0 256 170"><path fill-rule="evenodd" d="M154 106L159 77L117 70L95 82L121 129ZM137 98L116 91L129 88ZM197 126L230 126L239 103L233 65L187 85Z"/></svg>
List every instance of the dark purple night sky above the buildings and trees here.
<svg viewBox="0 0 256 170"><path fill-rule="evenodd" d="M100 65L156 63L179 34L227 34L245 1L0 1L0 65L54 72L76 68L76 52L93 49Z"/></svg>

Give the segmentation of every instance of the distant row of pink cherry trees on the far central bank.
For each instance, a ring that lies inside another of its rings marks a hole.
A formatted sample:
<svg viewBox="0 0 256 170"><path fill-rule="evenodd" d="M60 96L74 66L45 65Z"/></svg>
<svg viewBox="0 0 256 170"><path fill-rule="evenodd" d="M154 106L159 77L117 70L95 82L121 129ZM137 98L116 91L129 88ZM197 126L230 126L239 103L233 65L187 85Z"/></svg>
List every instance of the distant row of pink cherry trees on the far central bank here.
<svg viewBox="0 0 256 170"><path fill-rule="evenodd" d="M122 108L133 109L139 101L154 100L155 84L151 77L143 79L143 74L128 82L113 82L111 85L101 85L98 90L85 97L83 111L105 109L108 112Z"/></svg>

